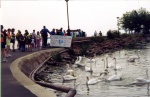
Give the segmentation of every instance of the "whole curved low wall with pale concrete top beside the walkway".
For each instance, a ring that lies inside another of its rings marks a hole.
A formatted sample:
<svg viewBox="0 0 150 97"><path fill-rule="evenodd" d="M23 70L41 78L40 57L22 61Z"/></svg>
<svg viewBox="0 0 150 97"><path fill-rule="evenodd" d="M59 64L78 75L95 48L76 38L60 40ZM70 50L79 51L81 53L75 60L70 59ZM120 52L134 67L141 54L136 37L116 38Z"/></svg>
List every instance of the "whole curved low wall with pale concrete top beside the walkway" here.
<svg viewBox="0 0 150 97"><path fill-rule="evenodd" d="M18 82L25 88L30 90L37 97L56 97L53 91L45 89L44 87L36 84L28 78L29 74L37 68L45 59L53 55L56 52L64 50L63 48L43 50L29 54L24 57L20 57L12 62L10 70L12 75L18 80Z"/></svg>

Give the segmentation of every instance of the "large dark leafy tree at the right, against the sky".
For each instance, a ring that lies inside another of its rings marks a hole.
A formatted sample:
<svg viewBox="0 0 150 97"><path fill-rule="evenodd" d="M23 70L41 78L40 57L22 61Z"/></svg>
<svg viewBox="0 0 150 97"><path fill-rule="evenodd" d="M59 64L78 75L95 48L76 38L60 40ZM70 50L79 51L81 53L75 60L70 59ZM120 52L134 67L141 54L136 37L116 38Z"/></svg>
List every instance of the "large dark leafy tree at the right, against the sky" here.
<svg viewBox="0 0 150 97"><path fill-rule="evenodd" d="M146 11L144 8L126 12L120 18L120 24L126 31L148 34L150 29L150 12Z"/></svg>

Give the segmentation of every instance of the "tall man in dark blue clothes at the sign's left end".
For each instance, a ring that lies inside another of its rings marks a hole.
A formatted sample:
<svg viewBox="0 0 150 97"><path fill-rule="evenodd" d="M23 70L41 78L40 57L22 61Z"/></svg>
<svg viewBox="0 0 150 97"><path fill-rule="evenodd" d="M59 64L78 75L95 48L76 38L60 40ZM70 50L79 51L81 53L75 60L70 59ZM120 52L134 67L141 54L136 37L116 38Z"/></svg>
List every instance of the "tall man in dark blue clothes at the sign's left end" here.
<svg viewBox="0 0 150 97"><path fill-rule="evenodd" d="M46 26L43 26L43 29L40 31L42 35L42 40L43 40L43 48L47 46L47 38L48 38L48 33L50 34L49 30L46 28Z"/></svg>

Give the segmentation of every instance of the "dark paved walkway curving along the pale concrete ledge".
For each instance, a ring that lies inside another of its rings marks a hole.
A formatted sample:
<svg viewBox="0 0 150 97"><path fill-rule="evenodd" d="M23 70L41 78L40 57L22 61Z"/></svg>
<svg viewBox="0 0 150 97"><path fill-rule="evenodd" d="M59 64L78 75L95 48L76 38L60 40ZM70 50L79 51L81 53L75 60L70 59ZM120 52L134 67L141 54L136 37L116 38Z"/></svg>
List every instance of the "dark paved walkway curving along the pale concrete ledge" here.
<svg viewBox="0 0 150 97"><path fill-rule="evenodd" d="M8 58L8 62L1 62L1 84L2 84L2 96L1 97L36 97L28 89L22 86L12 75L10 70L10 64L17 58L36 52L11 52L12 57Z"/></svg>

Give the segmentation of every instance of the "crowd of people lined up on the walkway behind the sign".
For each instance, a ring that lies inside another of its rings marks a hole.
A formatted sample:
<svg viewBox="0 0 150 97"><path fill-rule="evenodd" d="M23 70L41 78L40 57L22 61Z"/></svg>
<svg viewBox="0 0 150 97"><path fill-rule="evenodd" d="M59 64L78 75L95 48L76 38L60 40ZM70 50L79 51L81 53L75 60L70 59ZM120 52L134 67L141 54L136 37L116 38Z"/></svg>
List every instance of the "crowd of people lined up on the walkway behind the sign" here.
<svg viewBox="0 0 150 97"><path fill-rule="evenodd" d="M3 25L1 25L2 61L7 62L7 58L12 56L10 54L11 51L16 52L16 41L18 50L20 50L21 52L31 52L33 48L37 48L38 50L40 50L41 48L47 47L48 35L64 35L72 36L73 38L86 37L86 33L81 31L80 29L65 31L63 30L63 28L53 28L52 31L49 31L46 26L43 26L43 29L41 31L35 32L35 30L33 30L32 33L29 33L28 30L25 30L25 32L22 33L20 30L18 30L15 34L14 28L4 29ZM12 44L12 49L10 49L10 44Z"/></svg>

